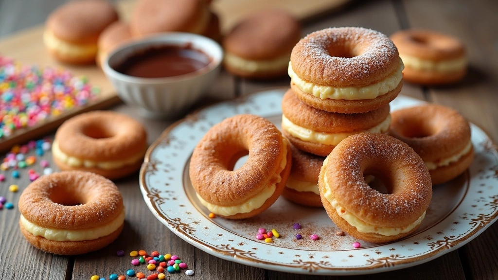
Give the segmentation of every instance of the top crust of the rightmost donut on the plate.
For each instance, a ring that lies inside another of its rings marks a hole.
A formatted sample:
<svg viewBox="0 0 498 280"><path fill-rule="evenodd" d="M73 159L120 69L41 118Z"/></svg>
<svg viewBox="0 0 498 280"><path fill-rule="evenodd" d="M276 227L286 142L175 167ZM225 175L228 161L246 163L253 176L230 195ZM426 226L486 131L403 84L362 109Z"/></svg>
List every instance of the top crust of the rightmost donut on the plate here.
<svg viewBox="0 0 498 280"><path fill-rule="evenodd" d="M457 111L434 104L394 111L389 135L407 143L426 162L437 163L471 140L469 122Z"/></svg>

